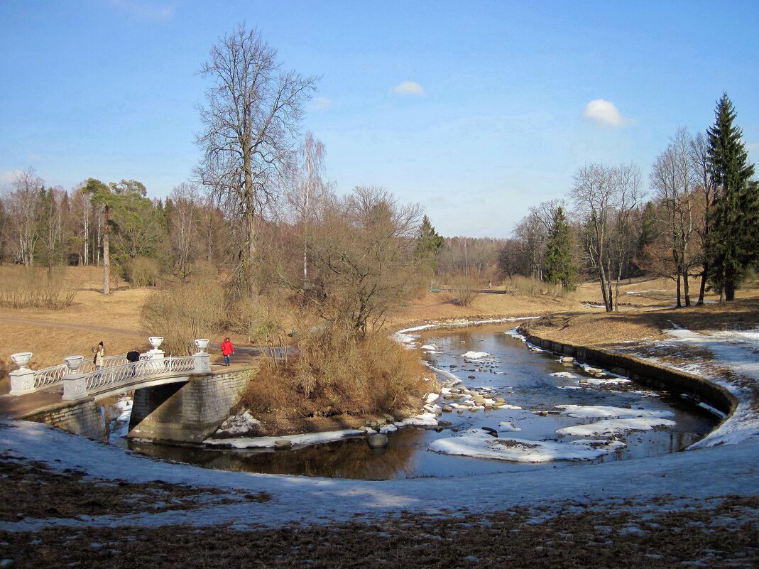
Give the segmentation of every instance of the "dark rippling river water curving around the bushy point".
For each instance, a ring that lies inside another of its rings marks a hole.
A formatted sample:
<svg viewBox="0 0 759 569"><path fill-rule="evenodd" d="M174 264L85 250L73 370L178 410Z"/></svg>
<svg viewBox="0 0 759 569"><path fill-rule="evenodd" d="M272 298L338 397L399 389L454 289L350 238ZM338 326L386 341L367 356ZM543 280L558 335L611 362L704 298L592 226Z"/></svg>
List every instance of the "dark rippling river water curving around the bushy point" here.
<svg viewBox="0 0 759 569"><path fill-rule="evenodd" d="M414 340L421 346L428 346L427 361L460 379L461 384L456 387L468 387L487 398L502 397L512 408L461 409L461 413L458 409L452 409L452 412L442 413L439 417L451 425L437 430L401 428L389 433L389 443L384 449L371 449L365 438L278 451L212 450L136 441L127 443L119 437L112 437L112 442L128 444L132 450L144 454L214 469L352 479L399 479L563 468L580 462L632 460L668 454L700 440L718 423L715 416L678 394L654 393L639 384L620 381L610 375L599 379L578 365L562 364L556 354L532 351L523 341L510 335L513 334L509 333L511 327L507 323L418 333ZM488 355L465 358L467 352ZM448 381L446 377L440 379ZM449 400L440 399L435 403L442 407L461 402L454 396L450 397ZM557 406L578 406L577 409L584 411L584 414L568 416L560 413L567 408ZM666 420L663 425L647 431L622 430L606 436L556 432L598 422L599 418L587 416L588 409L630 409L633 415L666 416ZM493 444L502 441L490 438L483 427L497 431L499 439L508 443L506 447L515 444L528 448L551 446L547 450L537 448L536 452L543 453L537 459L544 461L540 463L442 454L441 451L447 452L453 447L458 448L456 452L477 454L469 452L471 447L466 444L461 450L459 443L463 441L474 441L475 447L479 445L490 452ZM511 438L517 441L506 440ZM591 443L587 443L589 439ZM562 457L563 449L576 448L572 446L573 441L591 444L591 448L593 444L611 441L613 447L609 447L606 454L591 459L550 460L552 457Z"/></svg>

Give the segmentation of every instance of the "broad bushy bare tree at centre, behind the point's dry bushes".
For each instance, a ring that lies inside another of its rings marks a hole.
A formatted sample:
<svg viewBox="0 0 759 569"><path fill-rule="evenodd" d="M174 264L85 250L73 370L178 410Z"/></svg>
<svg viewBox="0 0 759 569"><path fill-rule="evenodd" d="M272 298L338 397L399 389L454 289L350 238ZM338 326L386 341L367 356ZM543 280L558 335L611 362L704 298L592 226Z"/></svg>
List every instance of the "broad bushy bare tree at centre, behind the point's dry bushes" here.
<svg viewBox="0 0 759 569"><path fill-rule="evenodd" d="M323 318L366 333L421 284L420 217L419 206L400 205L381 188L360 187L345 198L323 199L308 242L309 289L302 290L294 272L289 286L304 293Z"/></svg>

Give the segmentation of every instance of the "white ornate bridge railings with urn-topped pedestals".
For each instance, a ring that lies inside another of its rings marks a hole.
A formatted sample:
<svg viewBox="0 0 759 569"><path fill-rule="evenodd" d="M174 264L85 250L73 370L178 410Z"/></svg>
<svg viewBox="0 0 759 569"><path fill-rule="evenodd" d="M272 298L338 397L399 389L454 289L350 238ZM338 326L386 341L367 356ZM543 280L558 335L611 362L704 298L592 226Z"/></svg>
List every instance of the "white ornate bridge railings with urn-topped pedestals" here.
<svg viewBox="0 0 759 569"><path fill-rule="evenodd" d="M205 351L208 340L195 340L198 352L192 356L170 357L159 349L162 341L162 337L150 337L153 349L141 354L137 362L128 362L126 355L106 356L101 369L96 369L90 360L85 362L84 356L68 356L63 364L33 370L26 367L31 352L15 353L11 359L19 368L9 374L11 395L63 387L64 400L100 398L131 387L184 381L188 375L209 373L210 356Z"/></svg>

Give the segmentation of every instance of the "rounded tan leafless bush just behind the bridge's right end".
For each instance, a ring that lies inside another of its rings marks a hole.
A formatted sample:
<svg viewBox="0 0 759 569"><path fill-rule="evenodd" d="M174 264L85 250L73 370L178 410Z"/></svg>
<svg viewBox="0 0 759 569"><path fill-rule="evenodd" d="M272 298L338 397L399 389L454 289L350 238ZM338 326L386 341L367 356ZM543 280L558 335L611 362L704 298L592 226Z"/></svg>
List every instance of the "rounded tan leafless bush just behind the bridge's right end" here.
<svg viewBox="0 0 759 569"><path fill-rule="evenodd" d="M224 292L213 281L156 290L143 308L144 327L162 336L161 347L175 356L194 353L194 340L213 337L224 319Z"/></svg>

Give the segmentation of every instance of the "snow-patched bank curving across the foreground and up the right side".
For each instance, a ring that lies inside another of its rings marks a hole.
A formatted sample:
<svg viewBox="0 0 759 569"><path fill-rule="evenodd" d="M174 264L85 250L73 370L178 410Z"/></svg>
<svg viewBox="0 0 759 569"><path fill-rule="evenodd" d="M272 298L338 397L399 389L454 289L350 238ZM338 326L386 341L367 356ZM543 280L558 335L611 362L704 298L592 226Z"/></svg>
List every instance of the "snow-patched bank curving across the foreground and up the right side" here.
<svg viewBox="0 0 759 569"><path fill-rule="evenodd" d="M751 326L754 309L740 315L739 304L725 326ZM637 350L714 381L722 381L716 377L722 370L742 398L739 408L707 444L663 457L385 482L203 469L124 453L46 425L0 423L4 474L13 481L0 486L0 561L133 569L373 569L409 558L440 569L756 566L759 424L751 387L759 383L759 353L753 332L684 330L688 311L637 321L581 316L538 319L531 327L557 340L570 333L573 340L594 337L591 346ZM21 485L39 486L40 477L46 492L18 492ZM96 497L59 507L74 477L78 489L115 488L115 503ZM145 488L159 494L135 502Z"/></svg>

